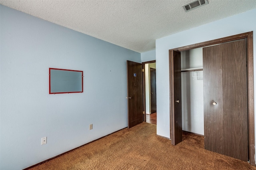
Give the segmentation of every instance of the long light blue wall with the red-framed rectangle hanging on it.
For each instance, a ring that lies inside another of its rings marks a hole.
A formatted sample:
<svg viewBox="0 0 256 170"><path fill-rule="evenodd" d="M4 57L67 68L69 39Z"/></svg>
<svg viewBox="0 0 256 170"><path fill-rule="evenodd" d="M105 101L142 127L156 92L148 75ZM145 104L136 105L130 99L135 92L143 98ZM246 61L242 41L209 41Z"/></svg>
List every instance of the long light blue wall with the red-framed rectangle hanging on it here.
<svg viewBox="0 0 256 170"><path fill-rule="evenodd" d="M140 53L2 5L0 38L1 170L127 127L126 60ZM84 71L84 93L49 95L49 67Z"/></svg>

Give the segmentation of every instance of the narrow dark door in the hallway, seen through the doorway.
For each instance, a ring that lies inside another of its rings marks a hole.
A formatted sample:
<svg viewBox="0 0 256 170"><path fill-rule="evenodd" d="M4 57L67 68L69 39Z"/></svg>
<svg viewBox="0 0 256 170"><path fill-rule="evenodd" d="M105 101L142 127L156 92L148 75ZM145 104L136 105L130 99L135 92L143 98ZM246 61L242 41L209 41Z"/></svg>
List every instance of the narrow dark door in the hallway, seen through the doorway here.
<svg viewBox="0 0 256 170"><path fill-rule="evenodd" d="M150 109L156 112L156 69L150 68Z"/></svg>

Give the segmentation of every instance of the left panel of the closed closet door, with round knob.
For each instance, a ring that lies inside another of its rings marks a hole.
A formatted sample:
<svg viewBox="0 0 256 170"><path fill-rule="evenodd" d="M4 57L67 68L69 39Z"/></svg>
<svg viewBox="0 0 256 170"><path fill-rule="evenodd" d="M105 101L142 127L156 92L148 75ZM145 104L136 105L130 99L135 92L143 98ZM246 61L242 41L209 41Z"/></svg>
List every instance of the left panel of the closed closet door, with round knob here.
<svg viewBox="0 0 256 170"><path fill-rule="evenodd" d="M218 45L203 48L203 69L204 147L224 154L222 52Z"/></svg>

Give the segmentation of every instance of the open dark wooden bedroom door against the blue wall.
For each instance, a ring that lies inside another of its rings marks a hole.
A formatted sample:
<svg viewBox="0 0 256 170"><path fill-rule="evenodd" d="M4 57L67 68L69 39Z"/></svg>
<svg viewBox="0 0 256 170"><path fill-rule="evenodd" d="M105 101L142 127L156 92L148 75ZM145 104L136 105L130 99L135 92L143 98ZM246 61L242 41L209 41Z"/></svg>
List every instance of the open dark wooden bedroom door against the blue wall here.
<svg viewBox="0 0 256 170"><path fill-rule="evenodd" d="M127 61L128 128L143 122L142 64Z"/></svg>

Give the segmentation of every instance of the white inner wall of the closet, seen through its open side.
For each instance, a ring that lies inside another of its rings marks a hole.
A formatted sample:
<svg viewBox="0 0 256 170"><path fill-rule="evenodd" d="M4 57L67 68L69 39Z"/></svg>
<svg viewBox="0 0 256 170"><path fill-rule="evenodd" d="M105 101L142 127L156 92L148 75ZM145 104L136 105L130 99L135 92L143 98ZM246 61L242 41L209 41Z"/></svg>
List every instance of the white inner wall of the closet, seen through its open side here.
<svg viewBox="0 0 256 170"><path fill-rule="evenodd" d="M181 52L181 69L203 67L202 48ZM181 73L182 88L182 130L204 135L203 80L196 72Z"/></svg>

